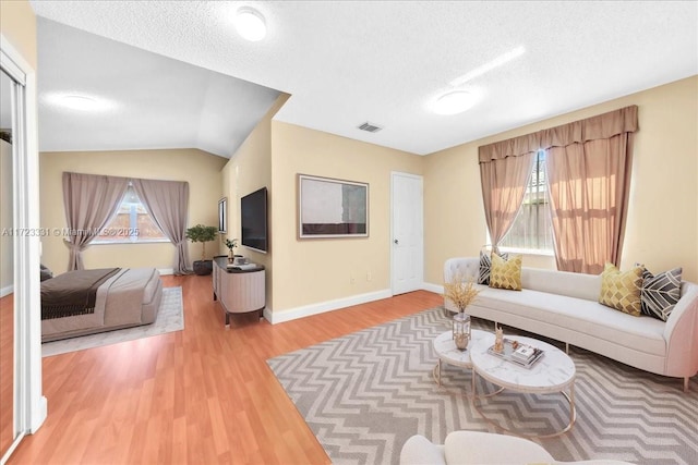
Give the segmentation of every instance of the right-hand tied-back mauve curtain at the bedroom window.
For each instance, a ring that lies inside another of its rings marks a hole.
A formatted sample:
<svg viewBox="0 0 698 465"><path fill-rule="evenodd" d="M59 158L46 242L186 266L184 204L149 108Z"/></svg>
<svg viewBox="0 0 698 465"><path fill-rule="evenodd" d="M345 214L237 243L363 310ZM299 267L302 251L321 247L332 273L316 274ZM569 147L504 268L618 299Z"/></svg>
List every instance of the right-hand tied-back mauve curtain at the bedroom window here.
<svg viewBox="0 0 698 465"><path fill-rule="evenodd" d="M174 274L190 273L186 247L189 183L156 180L132 180L132 183L155 224L174 245Z"/></svg>

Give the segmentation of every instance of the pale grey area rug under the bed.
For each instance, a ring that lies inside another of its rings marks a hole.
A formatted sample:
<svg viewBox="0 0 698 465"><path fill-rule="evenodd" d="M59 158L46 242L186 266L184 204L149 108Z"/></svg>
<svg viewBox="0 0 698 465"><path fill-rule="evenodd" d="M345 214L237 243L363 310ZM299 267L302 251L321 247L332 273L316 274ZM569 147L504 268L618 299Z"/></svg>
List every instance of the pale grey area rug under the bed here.
<svg viewBox="0 0 698 465"><path fill-rule="evenodd" d="M152 325L125 328L116 331L100 332L62 341L45 342L41 344L41 356L65 354L84 348L100 347L119 342L133 341L167 332L184 329L184 306L182 303L182 287L163 287L163 299L157 318Z"/></svg>

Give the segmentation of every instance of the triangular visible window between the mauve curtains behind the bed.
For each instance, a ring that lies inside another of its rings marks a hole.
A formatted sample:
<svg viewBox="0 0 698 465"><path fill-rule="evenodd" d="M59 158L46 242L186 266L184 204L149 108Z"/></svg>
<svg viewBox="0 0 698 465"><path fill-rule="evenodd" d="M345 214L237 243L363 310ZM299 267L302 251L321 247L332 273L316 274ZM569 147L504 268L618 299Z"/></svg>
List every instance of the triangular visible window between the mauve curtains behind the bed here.
<svg viewBox="0 0 698 465"><path fill-rule="evenodd" d="M131 184L121 199L117 215L111 219L93 244L123 244L169 242L163 231L141 204L139 195Z"/></svg>

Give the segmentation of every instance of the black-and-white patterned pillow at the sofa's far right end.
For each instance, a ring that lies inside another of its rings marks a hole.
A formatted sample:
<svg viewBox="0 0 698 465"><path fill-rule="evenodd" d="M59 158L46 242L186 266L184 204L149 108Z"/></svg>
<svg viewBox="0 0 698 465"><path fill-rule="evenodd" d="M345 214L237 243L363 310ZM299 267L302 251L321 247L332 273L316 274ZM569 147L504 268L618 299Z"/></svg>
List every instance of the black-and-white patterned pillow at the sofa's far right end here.
<svg viewBox="0 0 698 465"><path fill-rule="evenodd" d="M669 319L670 314L681 298L682 268L652 274L648 269L642 271L642 292L640 294L640 311L642 315Z"/></svg>

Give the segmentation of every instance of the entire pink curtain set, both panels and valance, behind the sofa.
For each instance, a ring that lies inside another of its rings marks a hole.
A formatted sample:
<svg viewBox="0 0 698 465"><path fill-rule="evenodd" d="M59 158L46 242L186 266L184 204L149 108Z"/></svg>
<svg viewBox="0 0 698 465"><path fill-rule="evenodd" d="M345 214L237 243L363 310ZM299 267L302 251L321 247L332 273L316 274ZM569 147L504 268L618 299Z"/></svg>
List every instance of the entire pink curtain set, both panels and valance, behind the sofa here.
<svg viewBox="0 0 698 465"><path fill-rule="evenodd" d="M521 205L533 155L546 169L557 269L600 273L621 261L637 106L479 147L482 198L493 244Z"/></svg>

